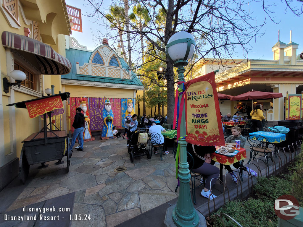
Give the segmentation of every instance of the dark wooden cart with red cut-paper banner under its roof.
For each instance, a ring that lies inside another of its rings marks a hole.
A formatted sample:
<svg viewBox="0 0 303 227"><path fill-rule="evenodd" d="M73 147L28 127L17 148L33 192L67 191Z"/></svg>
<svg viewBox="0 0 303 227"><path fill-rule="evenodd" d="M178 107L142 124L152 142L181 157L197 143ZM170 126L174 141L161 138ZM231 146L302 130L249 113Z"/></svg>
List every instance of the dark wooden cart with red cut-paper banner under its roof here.
<svg viewBox="0 0 303 227"><path fill-rule="evenodd" d="M70 93L60 93L51 96L44 96L42 98L26 100L23 102L9 104L8 106L15 106L17 108L27 108L28 103L39 102L39 110L43 111L43 106L47 106L48 109L52 108L52 103L50 100L56 97L61 98L61 100L67 100ZM66 131L59 130L52 123L52 113L54 111L49 111L47 113L43 113L43 123L44 127L38 133L32 133L29 137L22 141L23 146L21 150L20 160L19 160L19 178L25 183L28 173L29 166L37 163L41 163L39 168L47 167L45 165L46 162L58 160L55 164L62 164L63 156L67 156L67 172L69 171L70 165L70 157L72 153L69 150L69 137L67 137ZM29 111L30 112L30 111ZM44 111L45 112L45 111ZM30 114L30 113L29 113ZM47 114L49 117L49 123L47 124ZM56 130L52 130L52 125Z"/></svg>

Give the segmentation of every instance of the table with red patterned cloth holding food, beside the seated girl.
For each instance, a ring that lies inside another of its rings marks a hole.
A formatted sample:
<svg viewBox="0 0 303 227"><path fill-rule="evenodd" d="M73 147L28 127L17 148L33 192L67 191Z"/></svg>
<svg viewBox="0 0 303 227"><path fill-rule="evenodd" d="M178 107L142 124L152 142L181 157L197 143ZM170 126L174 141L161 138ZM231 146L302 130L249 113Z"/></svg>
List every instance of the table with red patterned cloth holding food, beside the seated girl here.
<svg viewBox="0 0 303 227"><path fill-rule="evenodd" d="M226 156L218 153L211 153L210 157L215 162L220 163L220 180L223 182L223 165L231 165L236 162L239 162L243 159L246 159L246 150L245 148L237 149L239 152L235 156Z"/></svg>

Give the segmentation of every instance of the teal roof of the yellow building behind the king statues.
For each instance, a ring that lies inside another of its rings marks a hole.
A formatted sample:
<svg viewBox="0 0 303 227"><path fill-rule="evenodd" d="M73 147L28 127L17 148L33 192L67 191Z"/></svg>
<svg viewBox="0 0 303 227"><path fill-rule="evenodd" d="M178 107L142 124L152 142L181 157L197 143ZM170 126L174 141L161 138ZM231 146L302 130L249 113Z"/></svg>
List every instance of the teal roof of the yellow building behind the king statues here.
<svg viewBox="0 0 303 227"><path fill-rule="evenodd" d="M72 69L70 73L61 75L61 79L67 80L78 80L78 81L94 81L100 83L112 83L112 84L126 84L126 85L135 85L135 86L143 86L141 81L138 79L136 74L131 71L132 79L120 79L120 78L112 78L112 77L98 77L91 75L83 75L77 74L76 62L79 62L79 65L82 66L84 63L88 63L89 58L92 54L91 51L85 50L76 50L76 49L66 49L65 50L66 58L71 62ZM123 58L119 58L122 68L128 69L128 65L124 61Z"/></svg>

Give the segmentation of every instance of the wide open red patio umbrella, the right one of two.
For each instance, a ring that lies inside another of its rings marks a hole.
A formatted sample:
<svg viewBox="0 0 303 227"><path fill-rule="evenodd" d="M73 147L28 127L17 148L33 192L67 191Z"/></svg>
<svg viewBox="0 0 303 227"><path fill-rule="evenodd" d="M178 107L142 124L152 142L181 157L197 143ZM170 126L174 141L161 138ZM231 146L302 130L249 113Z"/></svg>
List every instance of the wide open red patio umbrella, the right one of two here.
<svg viewBox="0 0 303 227"><path fill-rule="evenodd" d="M283 97L282 93L264 92L251 90L246 93L232 97L231 101L254 100L254 99L275 99Z"/></svg>

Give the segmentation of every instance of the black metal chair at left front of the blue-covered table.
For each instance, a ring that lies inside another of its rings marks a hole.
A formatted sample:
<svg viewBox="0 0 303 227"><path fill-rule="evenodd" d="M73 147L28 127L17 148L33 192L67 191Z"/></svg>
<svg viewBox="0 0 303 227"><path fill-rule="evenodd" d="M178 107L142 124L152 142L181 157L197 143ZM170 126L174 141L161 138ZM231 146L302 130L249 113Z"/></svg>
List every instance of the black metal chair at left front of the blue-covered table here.
<svg viewBox="0 0 303 227"><path fill-rule="evenodd" d="M262 157L268 155L271 158L271 152L273 152L274 149L268 147L268 139L259 135L249 135L247 140L250 144L249 148L251 149L248 163L250 163L251 158L254 160L256 155ZM263 153L264 155L260 155L259 153Z"/></svg>

